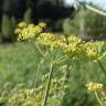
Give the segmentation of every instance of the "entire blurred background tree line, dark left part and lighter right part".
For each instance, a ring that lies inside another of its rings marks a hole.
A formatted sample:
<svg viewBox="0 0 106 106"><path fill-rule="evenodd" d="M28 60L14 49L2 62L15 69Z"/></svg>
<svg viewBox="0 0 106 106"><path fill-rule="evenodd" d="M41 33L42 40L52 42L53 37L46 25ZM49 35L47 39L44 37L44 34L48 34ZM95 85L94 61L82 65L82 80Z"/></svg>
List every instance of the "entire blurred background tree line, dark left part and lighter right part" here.
<svg viewBox="0 0 106 106"><path fill-rule="evenodd" d="M0 0L0 42L15 41L20 21L46 22L52 31L99 39L106 36L106 18L85 8L75 11L63 0Z"/></svg>

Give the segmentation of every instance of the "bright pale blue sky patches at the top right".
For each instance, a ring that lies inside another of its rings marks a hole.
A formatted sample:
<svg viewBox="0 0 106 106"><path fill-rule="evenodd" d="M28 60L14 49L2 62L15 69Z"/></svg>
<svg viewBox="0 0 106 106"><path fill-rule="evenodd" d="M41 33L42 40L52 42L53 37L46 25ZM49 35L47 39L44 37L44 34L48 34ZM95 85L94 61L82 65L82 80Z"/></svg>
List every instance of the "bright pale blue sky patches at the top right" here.
<svg viewBox="0 0 106 106"><path fill-rule="evenodd" d="M106 11L106 0L81 0L86 2L93 2L96 7ZM74 0L64 0L66 6L72 6Z"/></svg>

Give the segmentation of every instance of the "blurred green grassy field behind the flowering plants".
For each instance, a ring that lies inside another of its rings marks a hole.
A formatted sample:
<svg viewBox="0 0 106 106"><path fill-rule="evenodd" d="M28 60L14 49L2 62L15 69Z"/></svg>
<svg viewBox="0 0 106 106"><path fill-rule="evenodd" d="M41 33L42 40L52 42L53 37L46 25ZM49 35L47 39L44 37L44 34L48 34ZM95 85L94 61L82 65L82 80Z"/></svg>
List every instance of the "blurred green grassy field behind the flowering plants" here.
<svg viewBox="0 0 106 106"><path fill-rule="evenodd" d="M105 66L106 57L102 60ZM35 83L35 75L38 64L40 64L41 55L33 47L32 44L15 43L10 45L0 46L0 85L11 83L13 86L17 84L25 84L28 88L33 88ZM40 66L39 81L42 75L47 72L47 61ZM88 82L105 82L105 76L102 73L97 63L86 61L71 61L71 77L70 77L70 92L64 98L62 106L97 106L94 97L89 97L85 84ZM64 66L63 66L64 67ZM60 76L59 70L54 70L54 74ZM0 88L2 91L3 87ZM0 94L1 95L1 94ZM1 102L1 100L0 100ZM86 103L86 104L85 104ZM96 105L95 105L95 104ZM92 105L91 105L92 104ZM94 104L94 105L93 105ZM10 106L10 105L0 105ZM12 105L11 105L12 106ZM23 106L23 105L15 105ZM30 105L24 105L30 106ZM32 105L31 105L32 106ZM36 105L35 105L36 106ZM51 105L52 106L52 105Z"/></svg>

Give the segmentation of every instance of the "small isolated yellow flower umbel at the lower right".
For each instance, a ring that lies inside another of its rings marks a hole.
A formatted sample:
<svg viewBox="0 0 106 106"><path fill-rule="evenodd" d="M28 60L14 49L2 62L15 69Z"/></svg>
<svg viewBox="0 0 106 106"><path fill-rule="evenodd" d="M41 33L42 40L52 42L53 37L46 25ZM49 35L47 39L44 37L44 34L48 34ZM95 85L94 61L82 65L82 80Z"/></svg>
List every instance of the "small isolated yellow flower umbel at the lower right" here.
<svg viewBox="0 0 106 106"><path fill-rule="evenodd" d="M86 87L88 88L88 91L96 91L96 89L102 89L103 88L103 84L100 83L88 83L86 84Z"/></svg>

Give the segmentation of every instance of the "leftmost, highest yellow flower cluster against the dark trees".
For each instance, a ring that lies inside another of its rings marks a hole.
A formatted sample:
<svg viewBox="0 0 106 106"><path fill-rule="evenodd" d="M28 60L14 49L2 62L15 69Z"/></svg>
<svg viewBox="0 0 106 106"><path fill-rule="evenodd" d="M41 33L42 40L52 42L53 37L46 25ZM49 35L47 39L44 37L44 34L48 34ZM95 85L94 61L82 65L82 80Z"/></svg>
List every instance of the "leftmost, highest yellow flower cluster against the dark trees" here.
<svg viewBox="0 0 106 106"><path fill-rule="evenodd" d="M18 40L33 40L35 39L43 29L46 26L45 23L39 23L38 25L30 23L26 24L25 22L20 22L14 31L18 34Z"/></svg>

